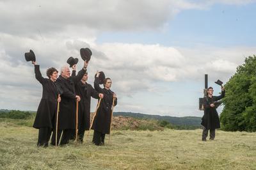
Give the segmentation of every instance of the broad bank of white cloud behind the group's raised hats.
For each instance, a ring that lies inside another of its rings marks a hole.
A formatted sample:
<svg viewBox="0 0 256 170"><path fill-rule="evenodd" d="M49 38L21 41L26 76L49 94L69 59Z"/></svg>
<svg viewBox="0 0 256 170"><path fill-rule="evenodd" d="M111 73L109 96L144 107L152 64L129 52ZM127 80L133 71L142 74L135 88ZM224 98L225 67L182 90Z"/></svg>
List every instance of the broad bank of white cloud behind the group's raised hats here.
<svg viewBox="0 0 256 170"><path fill-rule="evenodd" d="M24 40L26 39L17 38L15 43L19 44L20 41L20 44L22 44ZM80 68L82 59L79 57L79 47L82 45L90 47L93 51L97 49L95 53L98 56L94 56L93 53L88 67L89 81L90 83L93 82L93 75L96 70L102 70L107 77L111 77L113 91L121 97L121 105L118 104L118 108L123 108L122 97L131 98L136 93L143 91L158 94L170 91L170 89L159 85L159 82L196 81L202 79L204 73L209 73L211 79L227 81L236 72L236 66L243 63L243 56L250 56L255 52L255 47L214 48L204 46L196 49L186 49L182 47L163 47L157 44L106 43L100 45L93 42L91 45L80 40L66 40L65 42L46 40L51 43L44 45L42 42L29 39L26 42L35 47L38 63L40 65L44 63L41 65L44 76L47 67L60 68L61 65L66 63L70 55L79 58L78 68ZM41 45L42 48L40 48ZM35 110L37 107L35 101L40 100L42 87L35 80L33 66L24 60L24 50L21 51L23 47L19 49L14 46L14 49L18 49L15 53L20 53L19 59L16 59L16 61L13 56L6 53L4 46L0 47L1 108L7 105L10 107L10 98L16 95L19 98L12 98L13 103L17 104L15 107L19 105L21 108L26 107ZM6 77L6 75L8 76ZM179 87L177 88L179 89ZM33 98L33 102L30 102L31 98ZM140 111L147 110L143 105L140 107L142 108Z"/></svg>

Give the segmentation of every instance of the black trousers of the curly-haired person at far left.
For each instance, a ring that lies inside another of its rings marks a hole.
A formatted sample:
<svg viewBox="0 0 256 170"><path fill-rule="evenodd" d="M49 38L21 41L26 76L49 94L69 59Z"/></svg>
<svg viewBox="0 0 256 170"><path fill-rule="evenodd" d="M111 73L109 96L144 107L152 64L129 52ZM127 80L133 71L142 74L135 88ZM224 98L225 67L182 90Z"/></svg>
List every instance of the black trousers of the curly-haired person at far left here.
<svg viewBox="0 0 256 170"><path fill-rule="evenodd" d="M49 139L51 137L52 128L44 127L39 128L37 146L48 146Z"/></svg>

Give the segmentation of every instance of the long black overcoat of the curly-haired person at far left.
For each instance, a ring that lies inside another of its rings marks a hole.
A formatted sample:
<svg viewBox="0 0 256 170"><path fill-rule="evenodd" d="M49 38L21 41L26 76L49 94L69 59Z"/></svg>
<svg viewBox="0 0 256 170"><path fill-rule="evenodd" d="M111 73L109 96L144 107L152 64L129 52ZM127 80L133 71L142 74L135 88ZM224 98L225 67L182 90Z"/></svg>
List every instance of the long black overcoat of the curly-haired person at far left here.
<svg viewBox="0 0 256 170"><path fill-rule="evenodd" d="M33 124L34 128L49 127L53 128L54 116L57 112L58 91L56 84L51 79L45 79L40 72L40 66L35 65L35 76L43 86L43 94L38 109L36 118Z"/></svg>

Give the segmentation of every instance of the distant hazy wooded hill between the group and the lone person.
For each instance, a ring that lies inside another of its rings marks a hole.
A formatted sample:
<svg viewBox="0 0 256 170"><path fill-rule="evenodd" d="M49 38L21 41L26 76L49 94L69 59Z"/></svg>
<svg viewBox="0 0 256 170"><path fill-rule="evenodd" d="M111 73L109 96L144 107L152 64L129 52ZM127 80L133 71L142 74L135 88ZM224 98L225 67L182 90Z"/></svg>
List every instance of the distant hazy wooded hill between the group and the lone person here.
<svg viewBox="0 0 256 170"><path fill-rule="evenodd" d="M165 120L170 122L172 125L176 126L189 126L189 127L200 127L201 118L195 116L186 116L186 117L173 117L173 116L159 116L159 115L150 115L142 114L136 112L114 112L114 116L128 116L132 118L141 118L141 119L154 119L154 120Z"/></svg>

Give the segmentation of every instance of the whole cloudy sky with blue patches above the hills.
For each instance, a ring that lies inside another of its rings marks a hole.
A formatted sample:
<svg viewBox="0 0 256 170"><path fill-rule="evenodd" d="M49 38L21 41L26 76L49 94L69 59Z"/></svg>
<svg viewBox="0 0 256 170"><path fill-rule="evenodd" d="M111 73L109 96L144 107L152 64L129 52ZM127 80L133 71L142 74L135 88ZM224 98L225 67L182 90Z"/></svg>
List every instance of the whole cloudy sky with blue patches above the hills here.
<svg viewBox="0 0 256 170"><path fill-rule="evenodd" d="M202 116L204 75L218 95L214 81L226 83L256 54L255 9L253 0L0 0L0 109L38 107L42 85L24 58L29 49L46 77L70 56L81 69L79 50L88 47L88 82L97 70L112 79L114 111Z"/></svg>

